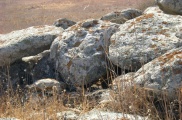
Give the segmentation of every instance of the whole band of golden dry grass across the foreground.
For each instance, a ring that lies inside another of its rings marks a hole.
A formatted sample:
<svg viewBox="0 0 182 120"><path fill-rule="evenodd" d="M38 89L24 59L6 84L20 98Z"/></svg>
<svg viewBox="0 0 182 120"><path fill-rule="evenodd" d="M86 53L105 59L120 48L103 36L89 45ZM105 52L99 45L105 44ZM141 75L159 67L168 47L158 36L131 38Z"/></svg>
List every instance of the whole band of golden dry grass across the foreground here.
<svg viewBox="0 0 182 120"><path fill-rule="evenodd" d="M122 88L119 83L118 88ZM132 84L132 83L131 83ZM83 114L93 108L148 116L152 120L178 120L181 119L182 91L179 90L177 100L170 101L165 94L155 95L152 90L143 88L112 90L112 101L99 104L94 99L88 99L85 89L81 92L53 94L53 96L35 96L23 101L24 91L18 89L12 93L4 91L0 98L0 118L15 117L24 120L57 120L56 113L73 110ZM39 98L39 99L37 99Z"/></svg>

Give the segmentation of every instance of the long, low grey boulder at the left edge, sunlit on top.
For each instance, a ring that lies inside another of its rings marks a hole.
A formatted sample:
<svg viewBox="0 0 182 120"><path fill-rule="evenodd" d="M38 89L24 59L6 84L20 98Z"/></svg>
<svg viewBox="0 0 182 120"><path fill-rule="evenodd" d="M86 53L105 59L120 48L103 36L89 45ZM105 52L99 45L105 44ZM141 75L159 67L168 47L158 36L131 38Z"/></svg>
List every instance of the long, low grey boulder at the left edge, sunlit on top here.
<svg viewBox="0 0 182 120"><path fill-rule="evenodd" d="M0 35L0 66L49 49L62 31L62 28L45 25Z"/></svg>

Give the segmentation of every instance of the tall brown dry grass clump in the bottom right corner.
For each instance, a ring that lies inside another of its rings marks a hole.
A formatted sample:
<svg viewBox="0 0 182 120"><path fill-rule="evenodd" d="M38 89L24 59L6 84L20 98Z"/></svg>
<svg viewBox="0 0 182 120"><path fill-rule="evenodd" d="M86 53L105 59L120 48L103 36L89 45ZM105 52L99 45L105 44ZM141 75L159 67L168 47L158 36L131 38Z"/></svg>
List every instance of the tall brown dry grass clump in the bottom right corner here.
<svg viewBox="0 0 182 120"><path fill-rule="evenodd" d="M152 120L182 119L180 90L178 99L175 100L169 100L165 93L156 96L153 90L135 87L124 91L117 90L112 92L111 96L114 100L104 106L111 111L147 116Z"/></svg>

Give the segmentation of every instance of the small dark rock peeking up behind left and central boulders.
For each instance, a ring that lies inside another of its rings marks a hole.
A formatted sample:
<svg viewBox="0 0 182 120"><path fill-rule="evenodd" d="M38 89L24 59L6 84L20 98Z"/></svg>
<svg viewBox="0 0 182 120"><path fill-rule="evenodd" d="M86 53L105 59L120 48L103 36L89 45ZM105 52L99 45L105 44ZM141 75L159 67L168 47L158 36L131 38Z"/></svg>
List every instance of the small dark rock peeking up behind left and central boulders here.
<svg viewBox="0 0 182 120"><path fill-rule="evenodd" d="M60 18L54 22L54 25L56 27L62 27L63 29L67 29L68 27L71 27L74 24L76 24L76 22L66 19L66 18Z"/></svg>

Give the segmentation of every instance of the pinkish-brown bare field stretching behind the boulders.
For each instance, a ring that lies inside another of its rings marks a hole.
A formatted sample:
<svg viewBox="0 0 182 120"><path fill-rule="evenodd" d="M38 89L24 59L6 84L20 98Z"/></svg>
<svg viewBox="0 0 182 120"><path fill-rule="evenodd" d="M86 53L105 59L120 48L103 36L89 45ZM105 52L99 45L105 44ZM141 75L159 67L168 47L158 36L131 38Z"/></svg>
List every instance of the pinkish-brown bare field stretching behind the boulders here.
<svg viewBox="0 0 182 120"><path fill-rule="evenodd" d="M80 21L125 8L144 9L154 0L0 0L0 34L58 18Z"/></svg>

